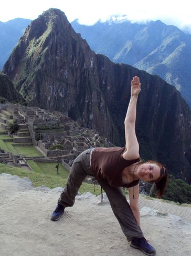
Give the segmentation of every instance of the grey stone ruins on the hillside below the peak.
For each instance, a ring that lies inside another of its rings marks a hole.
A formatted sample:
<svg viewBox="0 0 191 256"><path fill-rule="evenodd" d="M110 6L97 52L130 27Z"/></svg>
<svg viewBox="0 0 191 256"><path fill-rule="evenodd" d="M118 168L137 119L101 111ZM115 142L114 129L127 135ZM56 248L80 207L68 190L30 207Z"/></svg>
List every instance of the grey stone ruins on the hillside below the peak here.
<svg viewBox="0 0 191 256"><path fill-rule="evenodd" d="M19 104L7 104L6 107L3 106L2 108L11 113L9 118L19 123L18 137L14 139L14 142L37 146L44 153L44 159L47 161L50 159L56 161L59 157L62 165L67 170L70 170L73 160L84 150L91 147L113 146L106 138L99 136L95 130L79 126L77 122L60 112L50 113L39 107L22 106ZM1 122L3 121L1 120ZM61 144L63 150L50 150L50 146L56 144ZM16 166L19 166L20 163L26 163L27 157L22 159L22 156L15 158L12 155L11 158L9 157L10 153L4 154L0 155L1 162L7 163L9 161ZM29 159L35 161L38 157L29 157Z"/></svg>

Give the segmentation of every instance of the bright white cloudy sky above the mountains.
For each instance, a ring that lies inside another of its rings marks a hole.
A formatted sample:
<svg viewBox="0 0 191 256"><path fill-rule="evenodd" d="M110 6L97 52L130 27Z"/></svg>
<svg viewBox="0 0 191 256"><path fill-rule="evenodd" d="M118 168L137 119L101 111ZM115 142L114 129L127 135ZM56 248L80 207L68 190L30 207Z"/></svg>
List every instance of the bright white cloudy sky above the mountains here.
<svg viewBox="0 0 191 256"><path fill-rule="evenodd" d="M14 18L35 19L49 8L63 11L69 22L76 18L92 25L99 19L126 15L132 22L156 21L175 25L191 34L190 0L6 0L1 2L0 21Z"/></svg>

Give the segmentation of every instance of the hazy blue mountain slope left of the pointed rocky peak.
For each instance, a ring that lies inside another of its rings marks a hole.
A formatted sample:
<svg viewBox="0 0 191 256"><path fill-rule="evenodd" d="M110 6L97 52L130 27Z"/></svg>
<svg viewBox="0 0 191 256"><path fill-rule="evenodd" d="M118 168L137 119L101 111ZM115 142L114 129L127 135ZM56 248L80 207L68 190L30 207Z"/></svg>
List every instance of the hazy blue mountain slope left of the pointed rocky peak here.
<svg viewBox="0 0 191 256"><path fill-rule="evenodd" d="M30 19L24 18L0 22L0 70L30 22Z"/></svg>

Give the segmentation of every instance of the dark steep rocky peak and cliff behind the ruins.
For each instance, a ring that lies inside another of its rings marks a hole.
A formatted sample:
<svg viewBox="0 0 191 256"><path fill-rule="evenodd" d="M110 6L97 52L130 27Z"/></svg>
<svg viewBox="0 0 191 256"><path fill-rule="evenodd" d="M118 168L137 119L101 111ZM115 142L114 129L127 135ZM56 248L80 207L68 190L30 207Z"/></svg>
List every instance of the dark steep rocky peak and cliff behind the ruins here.
<svg viewBox="0 0 191 256"><path fill-rule="evenodd" d="M158 76L95 54L58 9L27 27L3 71L31 105L68 114L121 146L131 79L140 76L141 156L162 161L175 176L191 181L191 113L180 93Z"/></svg>

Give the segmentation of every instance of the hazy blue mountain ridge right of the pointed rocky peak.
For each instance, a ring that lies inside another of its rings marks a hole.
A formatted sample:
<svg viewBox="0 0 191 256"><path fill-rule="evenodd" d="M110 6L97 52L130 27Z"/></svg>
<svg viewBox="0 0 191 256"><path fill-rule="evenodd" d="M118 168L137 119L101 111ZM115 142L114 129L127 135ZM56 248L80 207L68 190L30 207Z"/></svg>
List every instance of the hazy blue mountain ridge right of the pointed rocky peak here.
<svg viewBox="0 0 191 256"><path fill-rule="evenodd" d="M161 21L108 21L86 26L76 20L71 25L95 53L159 75L176 86L191 106L191 35Z"/></svg>

